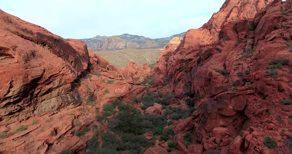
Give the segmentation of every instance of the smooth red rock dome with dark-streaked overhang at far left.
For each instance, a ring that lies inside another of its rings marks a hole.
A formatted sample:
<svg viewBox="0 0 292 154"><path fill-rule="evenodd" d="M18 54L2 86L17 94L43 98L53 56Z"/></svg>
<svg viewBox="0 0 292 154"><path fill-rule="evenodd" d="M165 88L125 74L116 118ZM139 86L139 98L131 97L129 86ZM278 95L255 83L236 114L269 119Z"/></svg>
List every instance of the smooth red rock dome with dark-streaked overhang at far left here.
<svg viewBox="0 0 292 154"><path fill-rule="evenodd" d="M80 104L71 83L89 66L86 44L2 10L0 23L0 124Z"/></svg>

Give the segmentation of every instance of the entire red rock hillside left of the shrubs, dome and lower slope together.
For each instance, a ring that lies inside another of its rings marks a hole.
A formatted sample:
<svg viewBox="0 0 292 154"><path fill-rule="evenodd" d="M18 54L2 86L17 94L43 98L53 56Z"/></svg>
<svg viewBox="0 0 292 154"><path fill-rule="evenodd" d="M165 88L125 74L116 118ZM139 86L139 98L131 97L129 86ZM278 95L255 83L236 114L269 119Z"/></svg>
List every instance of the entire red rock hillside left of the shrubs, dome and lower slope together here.
<svg viewBox="0 0 292 154"><path fill-rule="evenodd" d="M96 115L104 103L145 90L146 65L119 70L85 42L2 10L0 23L1 153L81 153L102 127Z"/></svg>

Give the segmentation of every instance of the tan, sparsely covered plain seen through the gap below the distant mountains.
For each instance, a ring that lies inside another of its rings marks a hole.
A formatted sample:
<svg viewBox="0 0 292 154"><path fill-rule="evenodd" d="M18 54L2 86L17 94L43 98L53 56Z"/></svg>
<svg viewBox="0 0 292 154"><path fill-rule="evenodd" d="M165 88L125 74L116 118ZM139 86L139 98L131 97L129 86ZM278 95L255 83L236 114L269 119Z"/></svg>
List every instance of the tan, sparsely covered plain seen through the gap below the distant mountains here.
<svg viewBox="0 0 292 154"><path fill-rule="evenodd" d="M142 67L142 64L153 65L155 64L160 54L161 48L154 49L122 49L115 51L98 51L95 52L102 58L110 62L110 64L118 67L125 68L127 64L135 62Z"/></svg>

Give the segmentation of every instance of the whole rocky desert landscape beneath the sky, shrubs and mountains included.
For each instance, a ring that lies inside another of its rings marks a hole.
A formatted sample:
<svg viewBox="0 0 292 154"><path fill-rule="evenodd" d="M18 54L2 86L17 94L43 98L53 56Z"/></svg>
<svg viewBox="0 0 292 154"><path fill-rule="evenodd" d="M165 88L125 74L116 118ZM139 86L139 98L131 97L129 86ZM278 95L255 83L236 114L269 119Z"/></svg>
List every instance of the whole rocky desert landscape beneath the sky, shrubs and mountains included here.
<svg viewBox="0 0 292 154"><path fill-rule="evenodd" d="M0 154L292 154L292 0L183 32L63 39L0 9Z"/></svg>

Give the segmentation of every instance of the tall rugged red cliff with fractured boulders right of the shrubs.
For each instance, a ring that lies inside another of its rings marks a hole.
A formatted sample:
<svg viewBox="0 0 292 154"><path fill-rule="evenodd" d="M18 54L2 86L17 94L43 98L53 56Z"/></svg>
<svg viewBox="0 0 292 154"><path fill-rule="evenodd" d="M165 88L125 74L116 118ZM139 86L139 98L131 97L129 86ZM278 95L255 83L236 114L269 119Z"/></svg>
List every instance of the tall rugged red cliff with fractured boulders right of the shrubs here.
<svg viewBox="0 0 292 154"><path fill-rule="evenodd" d="M169 80L171 90L191 98L197 108L176 124L176 135L191 131L203 151L222 154L291 151L284 144L291 139L283 134L292 125L285 105L292 91L291 3L226 0L178 47L166 46L153 75ZM267 136L275 149L264 144Z"/></svg>

